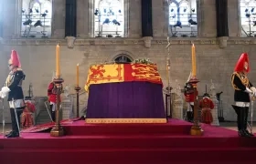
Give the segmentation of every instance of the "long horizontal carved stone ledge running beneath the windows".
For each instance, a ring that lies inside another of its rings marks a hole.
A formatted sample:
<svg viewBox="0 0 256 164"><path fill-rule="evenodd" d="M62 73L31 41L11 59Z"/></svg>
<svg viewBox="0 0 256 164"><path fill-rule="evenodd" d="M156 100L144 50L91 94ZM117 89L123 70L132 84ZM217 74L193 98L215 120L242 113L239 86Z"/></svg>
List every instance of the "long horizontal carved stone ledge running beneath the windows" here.
<svg viewBox="0 0 256 164"><path fill-rule="evenodd" d="M170 37L170 43L172 45L217 45L220 47L226 47L227 45L255 45L256 39L254 37L219 37L219 38L180 38L180 37ZM144 45L145 47L150 47L152 45L167 45L165 37L143 37L143 38L75 38L72 36L66 37L66 39L35 39L35 38L0 38L0 44L7 46L14 45L34 45L34 46L49 46L57 45L73 47L77 46L97 46L97 45Z"/></svg>

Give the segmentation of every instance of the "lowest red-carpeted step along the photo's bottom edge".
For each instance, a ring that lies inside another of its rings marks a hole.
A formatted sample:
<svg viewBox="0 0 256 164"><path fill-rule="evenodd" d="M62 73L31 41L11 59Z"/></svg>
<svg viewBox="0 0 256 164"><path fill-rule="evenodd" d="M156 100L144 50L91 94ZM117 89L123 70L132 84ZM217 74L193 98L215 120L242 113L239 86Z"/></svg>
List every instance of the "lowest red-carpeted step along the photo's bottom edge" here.
<svg viewBox="0 0 256 164"><path fill-rule="evenodd" d="M255 163L256 149L0 149L3 163ZM14 158L15 157L15 158ZM2 163L2 162L1 162Z"/></svg>

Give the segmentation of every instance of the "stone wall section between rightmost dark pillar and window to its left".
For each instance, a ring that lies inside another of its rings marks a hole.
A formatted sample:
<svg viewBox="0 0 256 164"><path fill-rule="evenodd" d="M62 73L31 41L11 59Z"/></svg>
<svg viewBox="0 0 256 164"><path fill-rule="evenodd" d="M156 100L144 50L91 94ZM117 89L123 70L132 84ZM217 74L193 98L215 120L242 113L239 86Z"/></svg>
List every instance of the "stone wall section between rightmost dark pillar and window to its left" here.
<svg viewBox="0 0 256 164"><path fill-rule="evenodd" d="M197 0L199 37L216 37L216 8L213 0Z"/></svg>

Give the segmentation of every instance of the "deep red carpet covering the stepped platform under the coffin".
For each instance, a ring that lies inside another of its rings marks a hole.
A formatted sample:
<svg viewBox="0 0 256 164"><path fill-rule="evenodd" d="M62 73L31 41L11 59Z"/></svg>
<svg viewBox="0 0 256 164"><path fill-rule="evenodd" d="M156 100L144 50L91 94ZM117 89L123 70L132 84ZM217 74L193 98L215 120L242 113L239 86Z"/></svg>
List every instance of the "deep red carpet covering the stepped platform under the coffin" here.
<svg viewBox="0 0 256 164"><path fill-rule="evenodd" d="M167 124L93 125L85 124L84 121L64 121L62 125L66 130L66 136L61 138L52 138L48 133L42 132L28 133L26 130L21 138L0 136L0 163L246 164L256 162L256 138L239 138L236 131L226 128L203 124L205 135L193 137L189 136L191 124L177 119L171 119Z"/></svg>

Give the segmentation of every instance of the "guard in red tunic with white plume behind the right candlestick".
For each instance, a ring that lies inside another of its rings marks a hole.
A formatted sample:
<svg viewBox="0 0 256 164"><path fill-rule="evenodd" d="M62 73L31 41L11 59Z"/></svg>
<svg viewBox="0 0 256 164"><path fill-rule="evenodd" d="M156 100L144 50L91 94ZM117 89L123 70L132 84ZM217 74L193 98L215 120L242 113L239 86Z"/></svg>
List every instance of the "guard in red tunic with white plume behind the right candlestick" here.
<svg viewBox="0 0 256 164"><path fill-rule="evenodd" d="M185 91L184 95L186 97L186 102L187 102L187 120L189 122L193 122L194 120L194 100L195 100L195 95L194 95L194 89L191 83L189 83L189 80L191 78L191 73L187 79L187 83L185 84ZM197 94L196 94L197 96ZM197 97L196 97L197 98Z"/></svg>

